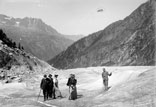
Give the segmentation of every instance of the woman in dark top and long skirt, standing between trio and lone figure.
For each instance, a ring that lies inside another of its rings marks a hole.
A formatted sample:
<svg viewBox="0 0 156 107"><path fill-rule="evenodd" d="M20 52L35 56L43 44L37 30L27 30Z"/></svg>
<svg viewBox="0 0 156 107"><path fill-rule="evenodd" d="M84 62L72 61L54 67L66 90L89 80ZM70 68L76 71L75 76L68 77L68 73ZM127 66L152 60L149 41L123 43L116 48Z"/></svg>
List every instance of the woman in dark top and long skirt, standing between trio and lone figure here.
<svg viewBox="0 0 156 107"><path fill-rule="evenodd" d="M77 80L75 79L75 75L70 75L68 78L67 86L69 86L69 100L77 99L77 89L76 89Z"/></svg>

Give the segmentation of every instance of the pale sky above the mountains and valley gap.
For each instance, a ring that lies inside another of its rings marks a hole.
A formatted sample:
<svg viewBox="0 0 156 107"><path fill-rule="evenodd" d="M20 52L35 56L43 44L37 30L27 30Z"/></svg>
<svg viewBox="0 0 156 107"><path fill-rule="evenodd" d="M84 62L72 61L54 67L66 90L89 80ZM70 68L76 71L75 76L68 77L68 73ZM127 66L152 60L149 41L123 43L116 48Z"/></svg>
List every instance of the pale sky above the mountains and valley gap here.
<svg viewBox="0 0 156 107"><path fill-rule="evenodd" d="M62 34L88 35L124 19L146 1L0 0L0 14L15 18L41 18Z"/></svg>

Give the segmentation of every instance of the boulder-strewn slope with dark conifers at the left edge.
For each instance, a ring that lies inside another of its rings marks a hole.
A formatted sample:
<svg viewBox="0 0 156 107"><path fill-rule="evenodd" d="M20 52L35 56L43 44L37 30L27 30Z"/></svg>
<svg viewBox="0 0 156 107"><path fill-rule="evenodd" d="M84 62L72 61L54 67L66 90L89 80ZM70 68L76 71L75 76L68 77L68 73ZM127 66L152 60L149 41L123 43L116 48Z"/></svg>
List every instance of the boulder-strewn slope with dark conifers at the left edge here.
<svg viewBox="0 0 156 107"><path fill-rule="evenodd" d="M2 30L0 37L5 35ZM6 44L7 36L0 38L0 79L7 77L31 77L32 74L47 72L46 70L54 70L48 63L39 60L30 53L18 48L10 47ZM10 43L11 44L11 43Z"/></svg>

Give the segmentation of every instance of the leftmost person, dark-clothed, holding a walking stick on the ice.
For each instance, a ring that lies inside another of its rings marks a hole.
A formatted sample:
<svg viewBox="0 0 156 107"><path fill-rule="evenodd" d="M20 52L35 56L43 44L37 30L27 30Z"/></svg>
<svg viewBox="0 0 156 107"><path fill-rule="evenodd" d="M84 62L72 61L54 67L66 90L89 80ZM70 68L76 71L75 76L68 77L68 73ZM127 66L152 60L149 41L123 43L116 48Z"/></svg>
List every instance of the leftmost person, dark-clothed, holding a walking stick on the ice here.
<svg viewBox="0 0 156 107"><path fill-rule="evenodd" d="M43 90L44 101L46 101L48 99L48 80L47 80L47 75L43 76L43 78L41 80L40 88Z"/></svg>

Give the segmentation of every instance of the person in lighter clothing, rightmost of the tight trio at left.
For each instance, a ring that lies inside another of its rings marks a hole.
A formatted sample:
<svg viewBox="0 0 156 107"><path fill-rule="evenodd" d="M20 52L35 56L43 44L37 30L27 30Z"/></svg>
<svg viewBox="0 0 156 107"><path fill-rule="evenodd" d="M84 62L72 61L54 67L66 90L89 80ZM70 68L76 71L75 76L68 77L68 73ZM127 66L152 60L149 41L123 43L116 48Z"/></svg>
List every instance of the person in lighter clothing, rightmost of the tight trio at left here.
<svg viewBox="0 0 156 107"><path fill-rule="evenodd" d="M54 93L55 93L55 96L57 95L58 97L62 98L62 94L61 94L61 91L59 90L59 86L58 86L57 77L58 77L58 75L54 75Z"/></svg>

